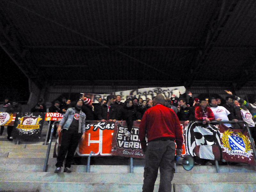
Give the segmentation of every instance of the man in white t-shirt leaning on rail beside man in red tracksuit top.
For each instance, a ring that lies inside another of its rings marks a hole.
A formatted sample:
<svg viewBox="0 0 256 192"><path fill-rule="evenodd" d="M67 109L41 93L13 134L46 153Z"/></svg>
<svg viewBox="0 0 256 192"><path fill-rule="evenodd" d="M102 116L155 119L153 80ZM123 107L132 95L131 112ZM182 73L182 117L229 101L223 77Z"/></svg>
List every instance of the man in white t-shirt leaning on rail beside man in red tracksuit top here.
<svg viewBox="0 0 256 192"><path fill-rule="evenodd" d="M211 109L216 121L235 121L235 122L238 121L237 119L230 119L230 116L229 116L230 112L226 108L222 106L218 106L218 103L215 98L211 98L209 100L209 103L212 106ZM232 128L231 124L224 124L224 125Z"/></svg>

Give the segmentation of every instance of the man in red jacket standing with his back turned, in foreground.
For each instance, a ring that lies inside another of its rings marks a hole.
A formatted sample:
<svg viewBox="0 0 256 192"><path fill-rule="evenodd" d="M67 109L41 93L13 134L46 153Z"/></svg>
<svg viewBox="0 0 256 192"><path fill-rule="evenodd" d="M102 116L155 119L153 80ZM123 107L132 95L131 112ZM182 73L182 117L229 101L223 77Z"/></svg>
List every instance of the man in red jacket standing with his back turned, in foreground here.
<svg viewBox="0 0 256 192"><path fill-rule="evenodd" d="M156 96L154 104L154 107L144 113L139 129L141 148L146 151L142 192L154 191L158 169L161 174L159 191L167 192L172 190L174 140L177 144L176 154L181 155L182 153L182 129L175 112L164 107L162 94ZM148 146L146 145L146 135Z"/></svg>

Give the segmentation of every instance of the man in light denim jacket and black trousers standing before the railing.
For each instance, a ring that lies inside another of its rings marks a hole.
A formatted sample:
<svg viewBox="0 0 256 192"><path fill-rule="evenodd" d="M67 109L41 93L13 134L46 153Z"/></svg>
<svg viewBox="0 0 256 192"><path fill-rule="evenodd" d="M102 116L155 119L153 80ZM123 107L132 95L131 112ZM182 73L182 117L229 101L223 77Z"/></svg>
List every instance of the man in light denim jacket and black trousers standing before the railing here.
<svg viewBox="0 0 256 192"><path fill-rule="evenodd" d="M63 161L68 151L64 172L71 172L71 162L79 141L85 138L85 114L81 108L84 101L77 100L75 108L68 108L62 117L57 132L62 132L60 151L57 157L55 173L61 172ZM62 129L61 129L62 127Z"/></svg>

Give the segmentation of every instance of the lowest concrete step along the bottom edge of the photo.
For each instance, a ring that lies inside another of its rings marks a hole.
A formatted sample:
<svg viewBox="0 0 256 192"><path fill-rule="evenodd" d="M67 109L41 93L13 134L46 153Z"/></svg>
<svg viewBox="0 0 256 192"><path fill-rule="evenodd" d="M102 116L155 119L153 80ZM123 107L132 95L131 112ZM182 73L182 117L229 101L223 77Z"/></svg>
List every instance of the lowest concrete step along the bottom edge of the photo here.
<svg viewBox="0 0 256 192"><path fill-rule="evenodd" d="M82 183L82 182L15 182L0 181L1 191L19 192L141 192L143 183ZM200 184L174 184L172 191L179 192L255 192L255 183L200 183ZM174 187L174 189L173 189ZM157 192L159 184L155 184L154 192ZM26 190L21 190L26 189Z"/></svg>

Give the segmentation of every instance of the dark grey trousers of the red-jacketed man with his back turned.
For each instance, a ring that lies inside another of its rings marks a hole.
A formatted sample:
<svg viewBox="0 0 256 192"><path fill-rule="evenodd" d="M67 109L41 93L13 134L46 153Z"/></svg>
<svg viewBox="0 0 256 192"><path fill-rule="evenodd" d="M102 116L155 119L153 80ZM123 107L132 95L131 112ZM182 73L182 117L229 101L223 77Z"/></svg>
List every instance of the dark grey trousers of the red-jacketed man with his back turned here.
<svg viewBox="0 0 256 192"><path fill-rule="evenodd" d="M160 170L159 192L172 191L172 179L175 169L175 143L172 140L151 141L145 154L144 180L142 192L153 192Z"/></svg>

